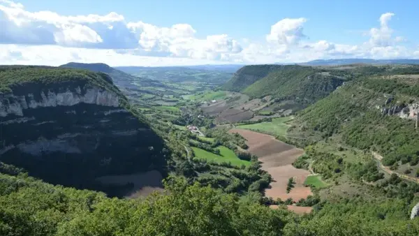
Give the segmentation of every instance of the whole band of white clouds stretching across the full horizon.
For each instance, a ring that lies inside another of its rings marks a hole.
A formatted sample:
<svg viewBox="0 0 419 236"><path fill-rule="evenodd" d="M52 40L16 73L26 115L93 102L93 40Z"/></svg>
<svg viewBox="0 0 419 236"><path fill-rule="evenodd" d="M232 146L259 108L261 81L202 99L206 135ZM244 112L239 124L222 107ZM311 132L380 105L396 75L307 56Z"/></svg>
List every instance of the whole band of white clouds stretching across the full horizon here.
<svg viewBox="0 0 419 236"><path fill-rule="evenodd" d="M186 23L160 27L142 21L126 22L124 15L115 12L30 12L20 3L0 0L0 63L264 64L344 57L419 57L418 50L403 46L406 38L393 36L390 20L394 15L381 15L379 26L367 30L369 39L359 45L327 39L310 41L304 34L304 17L284 18L267 26L264 40L242 38L239 42L228 34L198 37L197 29Z"/></svg>

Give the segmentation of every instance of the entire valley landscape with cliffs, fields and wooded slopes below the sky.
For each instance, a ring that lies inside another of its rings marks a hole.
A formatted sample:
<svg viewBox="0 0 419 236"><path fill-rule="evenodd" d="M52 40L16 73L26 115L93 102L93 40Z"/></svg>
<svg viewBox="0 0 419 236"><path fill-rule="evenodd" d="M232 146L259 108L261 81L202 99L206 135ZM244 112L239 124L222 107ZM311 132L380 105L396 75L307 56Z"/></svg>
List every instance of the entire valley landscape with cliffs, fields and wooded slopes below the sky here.
<svg viewBox="0 0 419 236"><path fill-rule="evenodd" d="M323 235L339 221L358 235L409 235L419 232L416 213L409 219L419 202L417 75L400 64L1 66L0 199L62 201L57 230L127 214L182 225L179 212L216 208L245 221L241 232L257 222ZM30 213L47 221L50 209ZM249 235L260 230L269 229Z"/></svg>

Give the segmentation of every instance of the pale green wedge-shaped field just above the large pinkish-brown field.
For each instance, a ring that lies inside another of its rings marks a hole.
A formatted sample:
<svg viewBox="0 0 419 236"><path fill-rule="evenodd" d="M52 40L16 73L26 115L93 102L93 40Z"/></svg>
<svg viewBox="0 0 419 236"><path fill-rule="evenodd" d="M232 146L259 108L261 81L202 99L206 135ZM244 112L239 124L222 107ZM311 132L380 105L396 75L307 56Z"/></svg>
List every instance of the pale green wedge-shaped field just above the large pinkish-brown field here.
<svg viewBox="0 0 419 236"><path fill-rule="evenodd" d="M291 119L293 119L293 117L280 117L272 119L272 122L242 124L238 125L237 128L249 129L251 131L258 131L261 133L271 133L274 135L286 135L286 131L289 126L285 123Z"/></svg>

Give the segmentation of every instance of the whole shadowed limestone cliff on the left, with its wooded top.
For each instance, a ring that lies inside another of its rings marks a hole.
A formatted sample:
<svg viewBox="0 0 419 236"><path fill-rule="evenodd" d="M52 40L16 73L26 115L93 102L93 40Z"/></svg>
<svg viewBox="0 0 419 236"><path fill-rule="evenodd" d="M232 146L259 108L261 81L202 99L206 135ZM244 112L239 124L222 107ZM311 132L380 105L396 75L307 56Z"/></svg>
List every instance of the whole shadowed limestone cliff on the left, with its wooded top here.
<svg viewBox="0 0 419 236"><path fill-rule="evenodd" d="M164 169L163 140L104 73L0 67L0 161L53 184Z"/></svg>

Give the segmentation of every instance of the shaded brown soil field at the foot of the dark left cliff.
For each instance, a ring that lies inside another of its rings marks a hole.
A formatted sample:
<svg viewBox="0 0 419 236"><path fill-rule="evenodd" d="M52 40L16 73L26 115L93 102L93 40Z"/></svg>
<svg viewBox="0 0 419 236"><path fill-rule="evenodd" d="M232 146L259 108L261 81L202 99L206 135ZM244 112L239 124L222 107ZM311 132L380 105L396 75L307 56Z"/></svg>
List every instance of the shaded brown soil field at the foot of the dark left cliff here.
<svg viewBox="0 0 419 236"><path fill-rule="evenodd" d="M98 177L96 180L102 184L133 184L133 189L126 194L126 198L138 198L140 196L148 196L154 191L163 191L161 180L163 177L160 172L151 170L132 175L107 175Z"/></svg>

